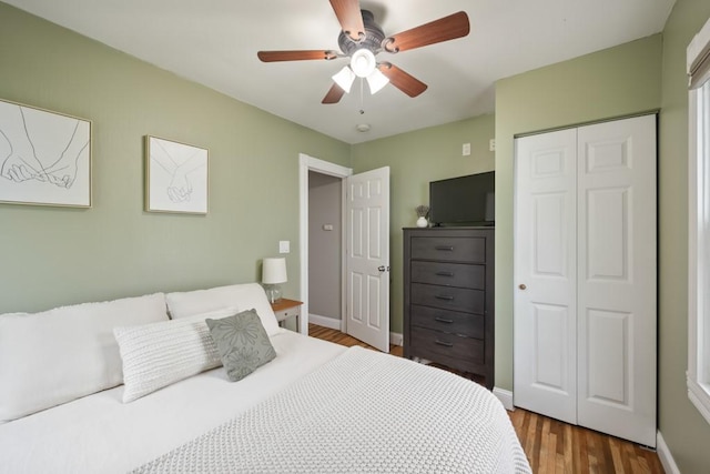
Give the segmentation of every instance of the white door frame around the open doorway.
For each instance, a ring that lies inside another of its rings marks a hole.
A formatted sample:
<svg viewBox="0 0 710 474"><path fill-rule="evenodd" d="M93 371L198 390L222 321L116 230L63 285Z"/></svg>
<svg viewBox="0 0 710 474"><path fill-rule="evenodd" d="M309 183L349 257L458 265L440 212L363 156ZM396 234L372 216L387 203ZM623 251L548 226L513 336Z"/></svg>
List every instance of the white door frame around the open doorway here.
<svg viewBox="0 0 710 474"><path fill-rule="evenodd" d="M317 158L310 157L305 153L298 153L298 239L300 239L300 254L301 254L301 317L298 317L298 332L301 334L308 334L308 171L315 171L317 173L327 174L331 177L341 179L341 192L343 195L341 221L342 229L345 229L345 179L353 174L352 168L341 167L339 164L331 163L328 161L320 160ZM342 274L345 273L345 238L346 233L342 233L341 242L341 269ZM346 317L345 317L345 280L341 279L341 331L345 332Z"/></svg>

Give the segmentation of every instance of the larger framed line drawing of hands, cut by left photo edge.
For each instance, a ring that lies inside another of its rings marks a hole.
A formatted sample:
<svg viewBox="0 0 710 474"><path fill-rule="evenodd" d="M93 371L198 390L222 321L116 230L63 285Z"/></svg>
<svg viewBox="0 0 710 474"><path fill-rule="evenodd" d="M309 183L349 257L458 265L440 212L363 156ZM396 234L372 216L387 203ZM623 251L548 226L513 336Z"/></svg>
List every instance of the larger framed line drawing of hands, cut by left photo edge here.
<svg viewBox="0 0 710 474"><path fill-rule="evenodd" d="M91 121L0 99L0 202L91 208Z"/></svg>

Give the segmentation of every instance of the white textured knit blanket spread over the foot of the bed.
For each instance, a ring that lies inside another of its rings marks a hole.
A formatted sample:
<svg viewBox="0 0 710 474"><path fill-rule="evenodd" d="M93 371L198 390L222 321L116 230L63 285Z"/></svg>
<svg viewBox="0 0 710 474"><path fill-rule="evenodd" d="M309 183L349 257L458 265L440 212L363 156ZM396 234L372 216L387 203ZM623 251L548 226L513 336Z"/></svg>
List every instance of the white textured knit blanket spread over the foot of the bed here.
<svg viewBox="0 0 710 474"><path fill-rule="evenodd" d="M475 383L352 347L136 473L530 473Z"/></svg>

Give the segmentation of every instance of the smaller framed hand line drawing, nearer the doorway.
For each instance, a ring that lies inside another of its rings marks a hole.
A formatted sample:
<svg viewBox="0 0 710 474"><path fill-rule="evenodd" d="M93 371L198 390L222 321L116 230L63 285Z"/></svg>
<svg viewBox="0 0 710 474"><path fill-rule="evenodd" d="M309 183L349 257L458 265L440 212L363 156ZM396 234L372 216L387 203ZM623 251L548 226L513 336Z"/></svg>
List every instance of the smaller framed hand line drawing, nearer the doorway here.
<svg viewBox="0 0 710 474"><path fill-rule="evenodd" d="M145 137L145 210L207 213L209 151Z"/></svg>

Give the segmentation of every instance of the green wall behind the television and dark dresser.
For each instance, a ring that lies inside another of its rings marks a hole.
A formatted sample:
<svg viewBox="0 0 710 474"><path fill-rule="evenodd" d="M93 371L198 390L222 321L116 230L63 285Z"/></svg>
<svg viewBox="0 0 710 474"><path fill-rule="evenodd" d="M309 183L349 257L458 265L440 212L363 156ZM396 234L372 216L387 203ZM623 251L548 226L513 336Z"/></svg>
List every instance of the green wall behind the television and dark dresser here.
<svg viewBox="0 0 710 474"><path fill-rule="evenodd" d="M488 151L494 138L494 115L432 127L353 145L354 172L390 167L389 265L390 331L403 330L402 228L415 226L415 208L429 202L429 181L490 171L495 153ZM470 143L470 155L462 157L462 145Z"/></svg>

